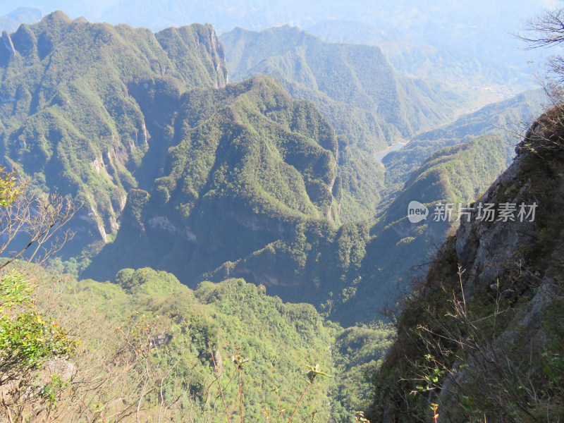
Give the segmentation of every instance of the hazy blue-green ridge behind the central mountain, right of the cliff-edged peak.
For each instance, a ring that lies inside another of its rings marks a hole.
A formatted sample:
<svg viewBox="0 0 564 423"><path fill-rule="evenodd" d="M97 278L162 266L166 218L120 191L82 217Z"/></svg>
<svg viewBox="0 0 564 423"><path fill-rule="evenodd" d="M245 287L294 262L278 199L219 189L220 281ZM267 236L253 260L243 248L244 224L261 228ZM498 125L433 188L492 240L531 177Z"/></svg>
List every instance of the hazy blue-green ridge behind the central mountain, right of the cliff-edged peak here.
<svg viewBox="0 0 564 423"><path fill-rule="evenodd" d="M235 28L220 39L233 80L257 73L281 80L369 152L445 122L455 97L401 77L375 46L327 43L288 25L262 32Z"/></svg>

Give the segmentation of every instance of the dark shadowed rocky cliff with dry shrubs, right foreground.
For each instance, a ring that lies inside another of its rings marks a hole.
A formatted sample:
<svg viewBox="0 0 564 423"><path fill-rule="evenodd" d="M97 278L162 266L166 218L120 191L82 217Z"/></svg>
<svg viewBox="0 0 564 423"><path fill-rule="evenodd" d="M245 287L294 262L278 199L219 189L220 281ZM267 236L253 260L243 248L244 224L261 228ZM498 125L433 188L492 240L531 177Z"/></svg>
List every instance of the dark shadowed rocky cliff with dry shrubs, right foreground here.
<svg viewBox="0 0 564 423"><path fill-rule="evenodd" d="M562 417L563 139L555 107L414 284L374 379L373 422L430 420L431 403L442 422Z"/></svg>

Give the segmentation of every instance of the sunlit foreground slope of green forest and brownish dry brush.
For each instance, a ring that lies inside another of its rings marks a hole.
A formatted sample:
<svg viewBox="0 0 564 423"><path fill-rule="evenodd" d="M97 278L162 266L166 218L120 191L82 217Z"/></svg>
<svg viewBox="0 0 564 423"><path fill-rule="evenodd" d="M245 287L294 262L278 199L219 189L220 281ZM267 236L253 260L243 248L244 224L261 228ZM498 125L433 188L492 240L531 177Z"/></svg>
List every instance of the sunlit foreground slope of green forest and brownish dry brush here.
<svg viewBox="0 0 564 423"><path fill-rule="evenodd" d="M149 268L122 269L116 284L63 278L34 296L44 319L80 340L63 359L74 374L54 385L56 407L39 401L35 409L51 407L57 422L228 422L222 396L231 421L240 419L241 406L245 421L264 413L276 419L277 410L289 419L306 388L293 421L348 421L367 405L364 375L379 365L392 336L381 324L343 331L312 305L282 302L242 279L190 290ZM242 405L234 355L247 360ZM307 367L316 364L329 376L308 386Z"/></svg>

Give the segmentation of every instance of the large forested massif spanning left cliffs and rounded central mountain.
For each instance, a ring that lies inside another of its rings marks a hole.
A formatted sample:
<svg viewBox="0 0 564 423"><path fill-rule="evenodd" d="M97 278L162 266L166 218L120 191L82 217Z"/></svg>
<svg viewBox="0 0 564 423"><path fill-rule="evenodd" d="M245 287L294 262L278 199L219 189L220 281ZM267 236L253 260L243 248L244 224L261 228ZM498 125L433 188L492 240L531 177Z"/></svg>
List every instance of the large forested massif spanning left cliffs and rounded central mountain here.
<svg viewBox="0 0 564 423"><path fill-rule="evenodd" d="M4 160L38 192L83 204L73 262L76 250L111 243L125 223L120 254L102 255L116 266L91 276L113 278L127 262L118 257L129 257L195 280L300 222L332 233L341 216L374 212L381 167L274 80L226 85L209 25L153 34L55 12L4 39L13 46L1 51ZM133 228L174 241L130 243ZM133 245L140 255L128 253Z"/></svg>

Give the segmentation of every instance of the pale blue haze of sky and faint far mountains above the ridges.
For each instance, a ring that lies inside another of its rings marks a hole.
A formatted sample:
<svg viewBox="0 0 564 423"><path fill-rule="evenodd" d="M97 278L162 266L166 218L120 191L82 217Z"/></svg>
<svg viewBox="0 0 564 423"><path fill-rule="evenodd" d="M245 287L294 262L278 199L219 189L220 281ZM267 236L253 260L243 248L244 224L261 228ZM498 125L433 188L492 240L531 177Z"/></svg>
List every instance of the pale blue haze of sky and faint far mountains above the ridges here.
<svg viewBox="0 0 564 423"><path fill-rule="evenodd" d="M522 44L509 32L520 30L526 18L556 4L554 0L462 0L393 2L219 0L35 0L49 13L62 9L78 18L161 30L190 23L212 23L226 32L234 27L264 30L276 25L298 25L333 42L374 44L384 49L393 66L412 75L439 78L479 75L503 80L518 89L531 87L533 72L527 61L539 54L520 51ZM28 6L25 0L15 6ZM375 37L374 35L379 35ZM533 65L534 67L534 65ZM472 78L472 79L474 79Z"/></svg>

